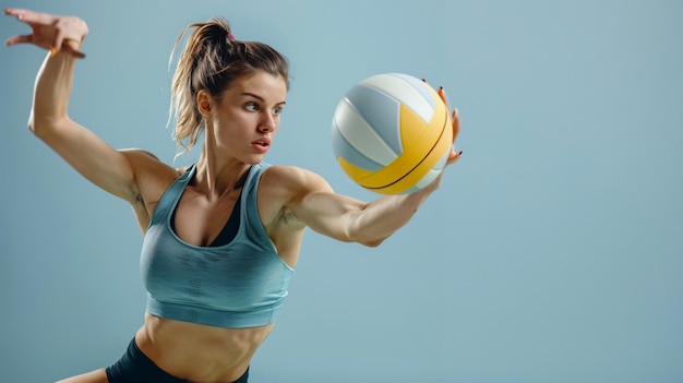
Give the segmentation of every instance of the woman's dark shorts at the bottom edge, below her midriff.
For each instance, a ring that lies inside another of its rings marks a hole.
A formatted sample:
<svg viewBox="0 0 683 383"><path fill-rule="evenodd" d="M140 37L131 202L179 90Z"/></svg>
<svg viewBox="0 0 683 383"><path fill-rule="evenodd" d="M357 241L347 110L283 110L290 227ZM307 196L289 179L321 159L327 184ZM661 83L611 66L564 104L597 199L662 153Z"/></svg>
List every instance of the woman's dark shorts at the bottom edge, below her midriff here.
<svg viewBox="0 0 683 383"><path fill-rule="evenodd" d="M247 383L249 369L242 378L232 383ZM178 379L168 372L159 369L152 359L147 358L137 345L135 338L128 345L128 349L111 367L107 368L107 380L109 383L182 383L188 382Z"/></svg>

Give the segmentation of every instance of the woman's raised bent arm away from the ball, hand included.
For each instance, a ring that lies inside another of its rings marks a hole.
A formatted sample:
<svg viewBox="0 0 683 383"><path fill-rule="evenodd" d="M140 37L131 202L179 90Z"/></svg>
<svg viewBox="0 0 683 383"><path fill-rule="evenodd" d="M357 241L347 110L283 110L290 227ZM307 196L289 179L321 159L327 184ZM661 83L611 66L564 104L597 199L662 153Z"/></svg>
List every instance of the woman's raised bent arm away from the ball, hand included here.
<svg viewBox="0 0 683 383"><path fill-rule="evenodd" d="M73 72L87 35L84 21L27 10L5 10L32 27L7 45L28 43L50 50L38 72L28 127L73 168L104 190L131 203L140 198L133 158L119 152L68 115ZM130 158L130 159L129 159Z"/></svg>

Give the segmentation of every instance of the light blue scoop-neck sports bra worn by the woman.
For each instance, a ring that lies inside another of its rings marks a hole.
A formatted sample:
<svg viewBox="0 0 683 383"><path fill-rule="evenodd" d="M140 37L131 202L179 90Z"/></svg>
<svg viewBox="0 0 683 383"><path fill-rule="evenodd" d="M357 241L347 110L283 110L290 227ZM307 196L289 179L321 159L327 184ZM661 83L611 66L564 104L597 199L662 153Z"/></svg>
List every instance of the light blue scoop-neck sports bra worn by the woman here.
<svg viewBox="0 0 683 383"><path fill-rule="evenodd" d="M171 216L194 176L194 166L166 190L154 211L140 260L148 313L231 328L275 321L293 270L277 254L256 207L259 180L268 166L262 163L249 170L239 202L239 228L224 246L193 246L171 228Z"/></svg>

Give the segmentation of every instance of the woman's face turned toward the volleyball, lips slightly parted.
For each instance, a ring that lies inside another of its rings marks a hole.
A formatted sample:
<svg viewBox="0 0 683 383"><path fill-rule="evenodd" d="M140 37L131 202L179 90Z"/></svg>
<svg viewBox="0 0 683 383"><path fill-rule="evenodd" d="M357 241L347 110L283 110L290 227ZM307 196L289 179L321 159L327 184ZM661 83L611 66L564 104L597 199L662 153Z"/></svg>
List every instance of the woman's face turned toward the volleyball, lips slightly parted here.
<svg viewBox="0 0 683 383"><path fill-rule="evenodd" d="M259 71L236 79L212 113L215 146L242 163L261 163L279 127L286 99L287 82L279 75Z"/></svg>

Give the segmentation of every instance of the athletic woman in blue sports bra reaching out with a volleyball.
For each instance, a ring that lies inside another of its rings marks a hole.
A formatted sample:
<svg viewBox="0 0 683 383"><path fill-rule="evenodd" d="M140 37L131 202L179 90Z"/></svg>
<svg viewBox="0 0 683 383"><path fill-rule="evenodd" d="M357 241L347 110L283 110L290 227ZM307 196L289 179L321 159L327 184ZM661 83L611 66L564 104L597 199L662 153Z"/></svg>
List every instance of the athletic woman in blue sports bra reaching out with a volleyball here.
<svg viewBox="0 0 683 383"><path fill-rule="evenodd" d="M196 164L175 169L147 152L113 149L67 113L75 61L85 57L85 22L5 14L32 27L8 45L50 51L29 129L85 178L130 202L144 237L144 324L115 364L63 382L247 382L287 295L304 228L379 246L440 185L441 177L418 192L366 203L335 194L311 171L264 163L286 104L288 64L267 45L237 40L219 19L192 24L178 39L191 31L171 87L175 137L189 151L204 134ZM459 155L452 149L448 163Z"/></svg>

